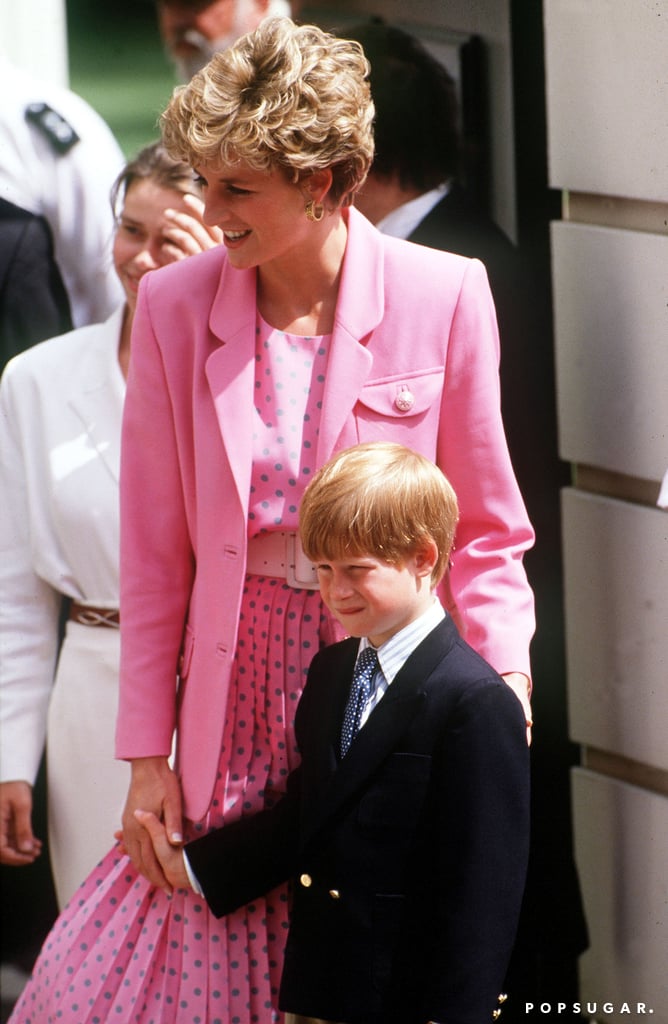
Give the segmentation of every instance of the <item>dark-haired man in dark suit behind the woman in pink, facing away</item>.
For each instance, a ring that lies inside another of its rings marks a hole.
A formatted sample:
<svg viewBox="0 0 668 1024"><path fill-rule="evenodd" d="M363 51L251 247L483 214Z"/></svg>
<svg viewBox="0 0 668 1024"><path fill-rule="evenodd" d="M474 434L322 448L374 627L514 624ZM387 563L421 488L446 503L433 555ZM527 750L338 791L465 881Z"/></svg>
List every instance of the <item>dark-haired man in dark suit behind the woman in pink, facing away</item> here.
<svg viewBox="0 0 668 1024"><path fill-rule="evenodd" d="M356 206L383 232L483 261L501 341L501 407L512 465L536 529L525 559L536 598L532 641L532 850L507 986L524 1001L577 999L587 926L573 855L559 488L551 311L547 288L467 187L455 82L422 43L373 18L341 32L371 65L376 155Z"/></svg>

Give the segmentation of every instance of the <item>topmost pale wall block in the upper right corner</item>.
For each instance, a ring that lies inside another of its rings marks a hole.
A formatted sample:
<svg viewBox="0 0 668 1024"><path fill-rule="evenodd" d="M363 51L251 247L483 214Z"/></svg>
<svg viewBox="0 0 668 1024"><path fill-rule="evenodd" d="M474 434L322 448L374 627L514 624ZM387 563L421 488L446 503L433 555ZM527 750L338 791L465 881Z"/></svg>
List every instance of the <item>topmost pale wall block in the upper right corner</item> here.
<svg viewBox="0 0 668 1024"><path fill-rule="evenodd" d="M665 203L668 3L545 0L544 8L552 183Z"/></svg>

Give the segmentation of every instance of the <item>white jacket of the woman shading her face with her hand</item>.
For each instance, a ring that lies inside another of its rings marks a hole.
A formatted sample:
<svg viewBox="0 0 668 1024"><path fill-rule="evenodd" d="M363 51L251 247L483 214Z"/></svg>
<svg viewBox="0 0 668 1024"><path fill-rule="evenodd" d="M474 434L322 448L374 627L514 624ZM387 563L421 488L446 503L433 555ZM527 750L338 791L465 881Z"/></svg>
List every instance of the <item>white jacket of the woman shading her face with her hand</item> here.
<svg viewBox="0 0 668 1024"><path fill-rule="evenodd" d="M118 608L122 317L22 352L0 381L2 781L37 774L60 596Z"/></svg>

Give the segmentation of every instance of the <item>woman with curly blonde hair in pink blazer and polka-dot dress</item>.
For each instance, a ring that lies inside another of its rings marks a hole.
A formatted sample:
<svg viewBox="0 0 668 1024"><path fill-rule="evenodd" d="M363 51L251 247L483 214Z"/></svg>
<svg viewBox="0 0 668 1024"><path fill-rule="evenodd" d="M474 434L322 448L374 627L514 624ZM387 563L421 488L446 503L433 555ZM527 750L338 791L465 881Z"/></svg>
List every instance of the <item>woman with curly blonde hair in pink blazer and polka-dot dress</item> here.
<svg viewBox="0 0 668 1024"><path fill-rule="evenodd" d="M178 845L282 793L308 664L341 636L297 539L304 487L335 452L387 439L442 467L461 507L443 600L529 717L533 531L487 276L354 210L373 156L367 74L359 44L267 19L163 115L223 245L139 291L121 481L123 838L56 923L15 1020L283 1020L287 890L216 920L197 885L168 891L136 812Z"/></svg>

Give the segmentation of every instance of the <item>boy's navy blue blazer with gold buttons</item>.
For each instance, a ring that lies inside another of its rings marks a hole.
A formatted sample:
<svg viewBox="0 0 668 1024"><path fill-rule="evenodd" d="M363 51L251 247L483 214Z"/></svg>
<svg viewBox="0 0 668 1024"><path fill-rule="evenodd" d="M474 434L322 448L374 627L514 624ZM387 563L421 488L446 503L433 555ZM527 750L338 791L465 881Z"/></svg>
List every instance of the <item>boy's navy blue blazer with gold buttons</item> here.
<svg viewBox="0 0 668 1024"><path fill-rule="evenodd" d="M218 916L292 880L281 1009L489 1024L527 867L524 712L446 618L341 761L358 646L314 658L286 796L189 844L189 859Z"/></svg>

